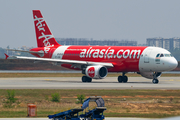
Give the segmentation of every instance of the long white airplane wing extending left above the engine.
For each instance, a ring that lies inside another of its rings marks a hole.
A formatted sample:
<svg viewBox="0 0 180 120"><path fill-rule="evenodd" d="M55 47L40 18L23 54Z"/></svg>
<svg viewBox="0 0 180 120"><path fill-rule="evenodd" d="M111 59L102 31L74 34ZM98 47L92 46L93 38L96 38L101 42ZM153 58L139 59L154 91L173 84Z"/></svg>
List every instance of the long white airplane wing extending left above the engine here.
<svg viewBox="0 0 180 120"><path fill-rule="evenodd" d="M28 59L36 61L47 61L55 63L66 63L66 64L77 64L77 65L102 65L106 67L113 67L112 63L105 62L89 62L89 61L77 61L77 60L65 60L65 59L50 59L50 58L36 58L36 57L24 57L24 56L14 56L17 59Z"/></svg>

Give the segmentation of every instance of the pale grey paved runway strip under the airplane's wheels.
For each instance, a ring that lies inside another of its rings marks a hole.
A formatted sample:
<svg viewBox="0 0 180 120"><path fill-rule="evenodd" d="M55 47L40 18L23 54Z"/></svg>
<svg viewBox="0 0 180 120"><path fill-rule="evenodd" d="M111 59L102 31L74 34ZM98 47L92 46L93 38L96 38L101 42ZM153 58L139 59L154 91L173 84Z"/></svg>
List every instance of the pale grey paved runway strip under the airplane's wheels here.
<svg viewBox="0 0 180 120"><path fill-rule="evenodd" d="M160 77L159 84L143 77L129 77L118 83L116 77L82 83L80 77L0 78L0 89L180 89L180 77Z"/></svg>

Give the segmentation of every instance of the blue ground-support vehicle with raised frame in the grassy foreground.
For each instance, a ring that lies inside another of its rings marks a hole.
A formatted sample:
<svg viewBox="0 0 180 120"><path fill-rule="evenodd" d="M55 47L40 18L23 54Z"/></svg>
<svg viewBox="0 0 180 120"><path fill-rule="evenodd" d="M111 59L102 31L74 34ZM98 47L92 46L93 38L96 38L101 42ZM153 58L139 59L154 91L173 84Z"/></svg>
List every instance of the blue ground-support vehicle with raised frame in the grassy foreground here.
<svg viewBox="0 0 180 120"><path fill-rule="evenodd" d="M97 107L89 110L89 102L96 102ZM86 109L88 111L86 112ZM84 111L84 114L79 115L79 112ZM106 110L104 107L104 100L100 96L91 96L86 99L80 109L71 109L58 114L49 115L49 119L53 120L104 120L103 112Z"/></svg>

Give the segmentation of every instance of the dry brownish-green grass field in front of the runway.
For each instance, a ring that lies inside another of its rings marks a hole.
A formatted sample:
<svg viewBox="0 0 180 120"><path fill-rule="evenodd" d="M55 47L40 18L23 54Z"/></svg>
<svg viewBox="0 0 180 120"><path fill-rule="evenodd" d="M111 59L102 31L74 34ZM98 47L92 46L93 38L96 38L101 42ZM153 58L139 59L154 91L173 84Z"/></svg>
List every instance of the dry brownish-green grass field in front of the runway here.
<svg viewBox="0 0 180 120"><path fill-rule="evenodd" d="M76 104L78 94L83 94L86 98L94 95L102 96L107 107L104 112L106 117L164 118L180 115L180 90L24 89L14 92L19 104L14 104L14 108L4 108L3 101L7 90L0 90L1 118L26 117L27 103L37 105L37 117L47 117L64 110L80 108L81 104ZM60 102L51 101L51 95L54 93L60 94ZM95 105L90 103L90 108Z"/></svg>

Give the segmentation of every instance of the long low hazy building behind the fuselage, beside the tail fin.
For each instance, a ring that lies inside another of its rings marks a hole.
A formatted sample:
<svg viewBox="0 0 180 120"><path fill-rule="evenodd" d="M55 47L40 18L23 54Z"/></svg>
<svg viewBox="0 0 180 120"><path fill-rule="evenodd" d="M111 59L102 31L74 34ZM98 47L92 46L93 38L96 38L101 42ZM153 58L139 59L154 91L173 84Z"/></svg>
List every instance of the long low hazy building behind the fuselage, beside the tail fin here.
<svg viewBox="0 0 180 120"><path fill-rule="evenodd" d="M137 41L93 40L87 38L56 38L61 45L137 46Z"/></svg>

